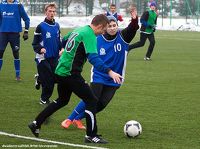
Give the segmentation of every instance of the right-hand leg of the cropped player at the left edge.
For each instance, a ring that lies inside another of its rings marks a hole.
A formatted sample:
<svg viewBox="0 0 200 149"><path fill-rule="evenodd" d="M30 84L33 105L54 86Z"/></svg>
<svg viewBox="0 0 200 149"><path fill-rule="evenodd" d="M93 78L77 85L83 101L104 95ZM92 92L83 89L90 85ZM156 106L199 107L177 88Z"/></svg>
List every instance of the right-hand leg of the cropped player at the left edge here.
<svg viewBox="0 0 200 149"><path fill-rule="evenodd" d="M14 57L14 67L15 67L15 76L16 80L20 80L20 58L19 58L19 50L20 50L20 34L9 34L8 36L10 46L12 48L13 57Z"/></svg>

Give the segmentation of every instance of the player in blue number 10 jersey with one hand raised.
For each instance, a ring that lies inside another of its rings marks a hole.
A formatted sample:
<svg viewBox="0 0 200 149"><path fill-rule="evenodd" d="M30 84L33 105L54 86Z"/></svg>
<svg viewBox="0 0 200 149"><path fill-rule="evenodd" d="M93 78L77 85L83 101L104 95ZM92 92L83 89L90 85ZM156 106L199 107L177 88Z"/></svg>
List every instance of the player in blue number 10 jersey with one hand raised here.
<svg viewBox="0 0 200 149"><path fill-rule="evenodd" d="M131 8L131 22L123 30L118 30L117 20L113 16L108 16L109 25L104 35L97 37L98 55L103 62L112 70L123 76L127 54L129 52L129 43L134 38L138 30L138 17L135 7ZM124 79L122 80L124 81ZM91 70L91 88L98 98L97 112L102 111L113 98L115 92L121 84L115 83L108 74L98 71L96 68ZM74 124L79 129L86 129L81 119L85 117L85 103L81 101L74 109L72 114L61 123L61 126L68 128Z"/></svg>

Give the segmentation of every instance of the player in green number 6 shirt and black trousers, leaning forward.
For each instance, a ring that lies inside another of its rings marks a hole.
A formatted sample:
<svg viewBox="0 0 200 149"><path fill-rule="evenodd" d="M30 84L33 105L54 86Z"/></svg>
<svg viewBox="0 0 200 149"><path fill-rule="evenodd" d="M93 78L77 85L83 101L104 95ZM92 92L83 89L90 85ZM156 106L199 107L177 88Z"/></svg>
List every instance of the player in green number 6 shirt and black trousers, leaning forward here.
<svg viewBox="0 0 200 149"><path fill-rule="evenodd" d="M83 66L88 59L95 69L108 74L115 83L121 83L122 76L115 73L103 63L97 54L96 35L102 34L108 25L105 15L97 15L90 25L77 28L64 37L65 49L56 67L56 79L58 82L58 98L50 103L35 120L29 124L32 133L38 137L42 123L47 117L58 109L68 104L71 94L75 93L86 103L87 130L86 143L107 143L97 134L96 104L97 98L89 85L81 75Z"/></svg>

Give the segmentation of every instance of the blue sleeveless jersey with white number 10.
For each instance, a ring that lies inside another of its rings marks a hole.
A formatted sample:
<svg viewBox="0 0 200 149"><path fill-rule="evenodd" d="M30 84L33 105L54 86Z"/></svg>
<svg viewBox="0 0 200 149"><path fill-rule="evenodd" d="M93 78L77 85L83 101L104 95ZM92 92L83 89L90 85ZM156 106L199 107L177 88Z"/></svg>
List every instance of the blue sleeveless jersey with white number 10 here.
<svg viewBox="0 0 200 149"><path fill-rule="evenodd" d="M121 36L120 31L117 32L113 40L106 40L103 35L97 36L97 50L99 57L113 71L123 76L125 75L126 60L128 54L128 43ZM113 81L107 74L92 68L91 82L101 83L109 86L120 86ZM124 80L122 80L123 82Z"/></svg>

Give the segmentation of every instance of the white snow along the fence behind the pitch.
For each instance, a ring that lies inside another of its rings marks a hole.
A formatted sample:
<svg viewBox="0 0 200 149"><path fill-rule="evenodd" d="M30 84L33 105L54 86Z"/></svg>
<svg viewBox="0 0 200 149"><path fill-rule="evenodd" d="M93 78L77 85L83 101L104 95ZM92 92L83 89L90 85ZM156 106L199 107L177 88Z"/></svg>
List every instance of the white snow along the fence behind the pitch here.
<svg viewBox="0 0 200 149"><path fill-rule="evenodd" d="M60 24L61 28L76 28L80 26L84 26L90 24L92 18L94 16L81 16L81 17L56 17L56 21ZM40 22L44 20L44 16L31 16L31 27L36 27ZM124 28L130 22L130 18L123 18L123 22L119 22L119 27ZM200 32L200 25L197 24L193 19L188 19L186 23L186 19L170 19L167 18L158 18L157 20L157 30L184 30L184 31L198 31Z"/></svg>

